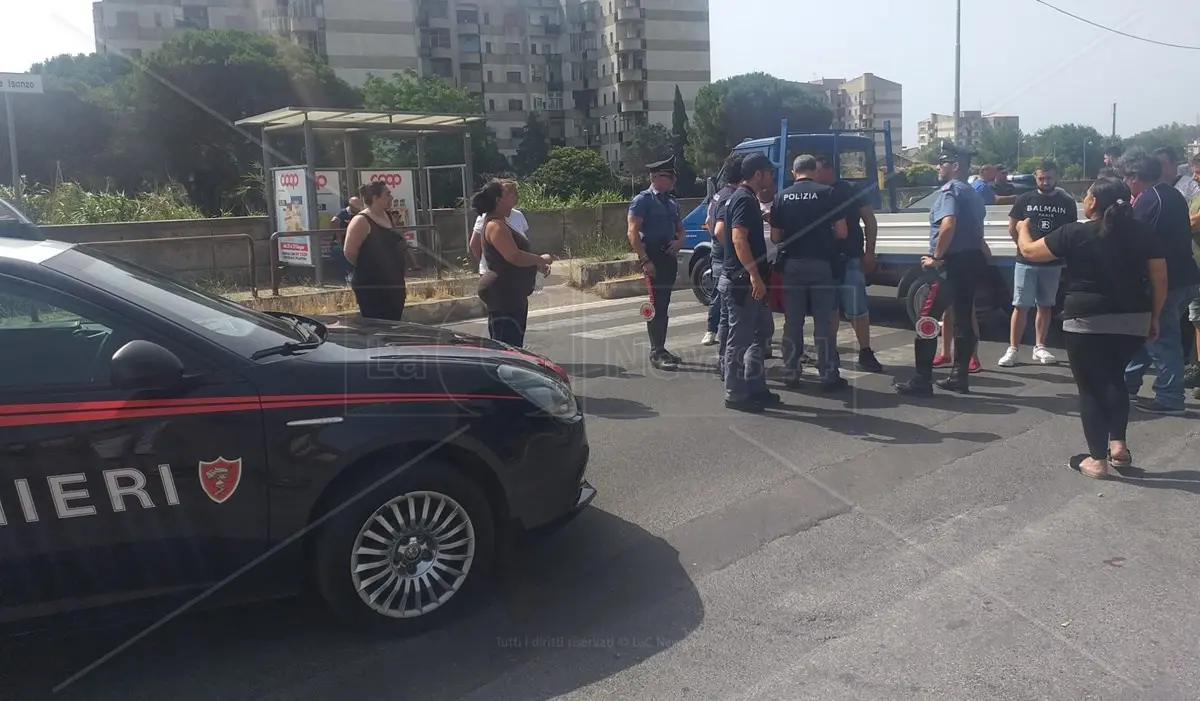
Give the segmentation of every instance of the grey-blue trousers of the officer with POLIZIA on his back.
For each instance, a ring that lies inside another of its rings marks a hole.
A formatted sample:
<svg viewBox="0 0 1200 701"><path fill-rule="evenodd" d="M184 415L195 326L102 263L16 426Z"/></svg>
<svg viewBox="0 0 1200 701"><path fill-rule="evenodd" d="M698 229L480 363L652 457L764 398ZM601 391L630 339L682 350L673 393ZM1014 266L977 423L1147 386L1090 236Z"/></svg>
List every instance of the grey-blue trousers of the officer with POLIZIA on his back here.
<svg viewBox="0 0 1200 701"><path fill-rule="evenodd" d="M784 367L790 373L799 369L804 353L804 316L811 302L812 340L817 347L817 370L822 381L841 377L836 340L830 338L833 314L838 305L838 283L828 260L788 258L784 262Z"/></svg>

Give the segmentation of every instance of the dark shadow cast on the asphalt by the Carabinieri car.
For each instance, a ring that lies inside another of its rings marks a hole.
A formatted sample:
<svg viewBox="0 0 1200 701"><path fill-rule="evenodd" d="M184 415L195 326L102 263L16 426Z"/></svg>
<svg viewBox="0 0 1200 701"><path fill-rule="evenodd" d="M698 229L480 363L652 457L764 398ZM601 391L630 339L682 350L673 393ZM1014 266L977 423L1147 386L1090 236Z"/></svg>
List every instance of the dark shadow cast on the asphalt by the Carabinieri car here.
<svg viewBox="0 0 1200 701"><path fill-rule="evenodd" d="M140 627L6 649L0 697L534 701L637 665L704 617L678 552L600 509L505 562L476 606L419 637L354 634L304 598L239 606L179 618L59 694Z"/></svg>

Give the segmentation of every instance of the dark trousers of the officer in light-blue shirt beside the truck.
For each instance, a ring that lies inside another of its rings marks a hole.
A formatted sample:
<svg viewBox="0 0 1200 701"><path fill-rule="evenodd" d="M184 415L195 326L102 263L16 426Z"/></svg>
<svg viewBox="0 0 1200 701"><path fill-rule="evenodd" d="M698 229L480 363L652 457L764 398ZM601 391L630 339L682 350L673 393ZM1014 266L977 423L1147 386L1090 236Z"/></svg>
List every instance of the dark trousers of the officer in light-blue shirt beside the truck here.
<svg viewBox="0 0 1200 701"><path fill-rule="evenodd" d="M926 382L934 379L934 358L937 355L936 322L946 310L954 310L954 369L952 375L960 382L967 381L971 358L979 338L974 332L971 316L974 313L976 286L984 278L988 259L983 251L949 253L929 287L929 296L917 319L917 340L913 355L917 376ZM930 329L932 334L928 332ZM923 337L925 336L925 337Z"/></svg>

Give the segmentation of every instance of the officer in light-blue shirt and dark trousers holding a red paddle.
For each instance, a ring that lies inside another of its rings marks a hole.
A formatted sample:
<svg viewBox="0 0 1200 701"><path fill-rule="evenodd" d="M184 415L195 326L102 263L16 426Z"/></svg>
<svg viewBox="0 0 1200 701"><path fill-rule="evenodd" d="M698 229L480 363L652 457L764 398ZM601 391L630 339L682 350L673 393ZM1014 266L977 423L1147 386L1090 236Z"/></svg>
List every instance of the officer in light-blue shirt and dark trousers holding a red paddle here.
<svg viewBox="0 0 1200 701"><path fill-rule="evenodd" d="M917 314L917 338L913 343L917 375L894 385L901 395L932 396L934 357L941 332L937 319L947 308L953 308L958 319L954 324L954 366L950 377L938 381L937 387L962 394L968 391L971 358L979 343L970 319L974 313L976 284L984 278L988 269L983 238L988 210L979 193L961 178L965 156L949 142L942 144L937 156L942 187L929 210L929 256L922 258L922 266L934 271L936 277Z"/></svg>

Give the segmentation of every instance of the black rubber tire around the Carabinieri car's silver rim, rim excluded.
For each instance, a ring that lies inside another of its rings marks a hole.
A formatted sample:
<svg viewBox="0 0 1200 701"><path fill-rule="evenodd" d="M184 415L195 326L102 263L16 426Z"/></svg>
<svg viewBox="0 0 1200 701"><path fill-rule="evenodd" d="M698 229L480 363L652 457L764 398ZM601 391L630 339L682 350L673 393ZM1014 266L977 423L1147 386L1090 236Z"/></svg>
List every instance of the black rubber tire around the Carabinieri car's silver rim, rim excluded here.
<svg viewBox="0 0 1200 701"><path fill-rule="evenodd" d="M395 465L364 471L361 479L340 489L330 503L354 498L389 468L394 469ZM422 616L392 618L373 611L359 597L350 579L350 551L359 531L379 507L415 491L445 495L467 511L475 535L474 557L466 580L444 604ZM452 465L428 459L364 495L323 525L313 547L313 574L318 593L340 618L367 633L402 637L425 633L452 618L487 580L494 553L496 521L482 489Z"/></svg>

